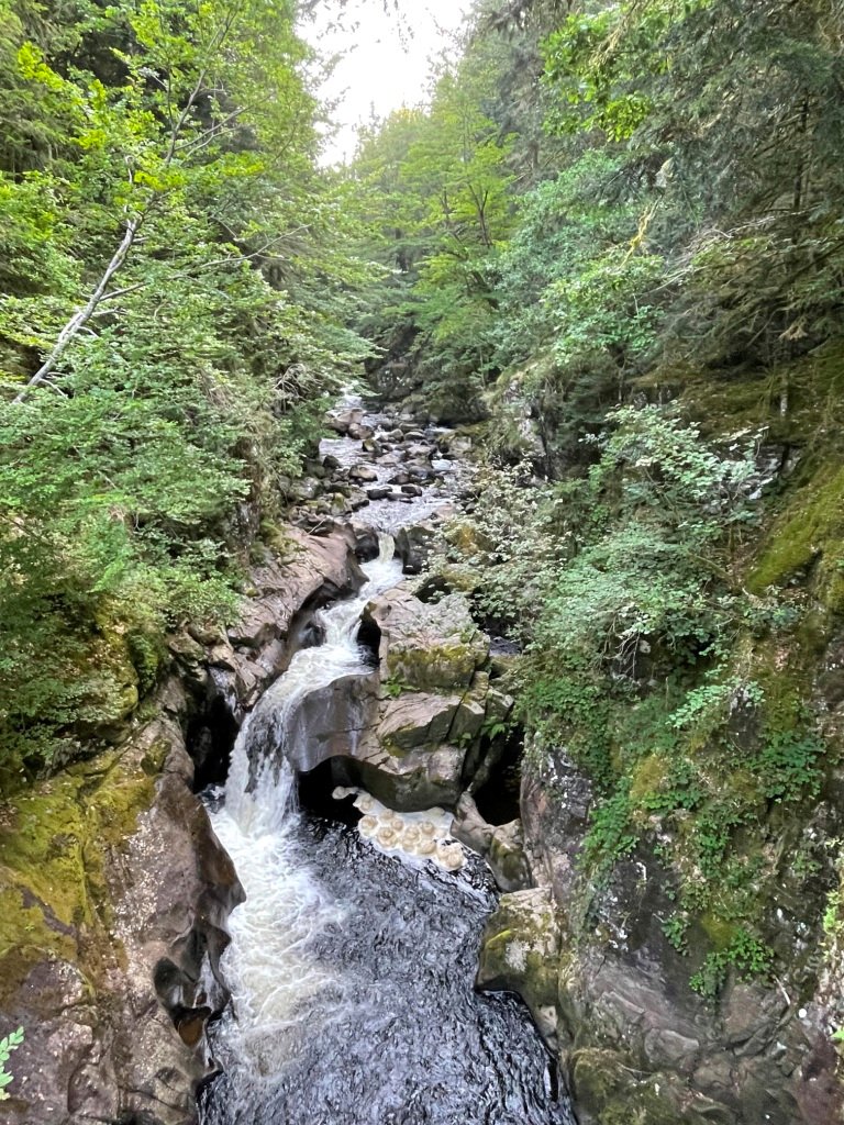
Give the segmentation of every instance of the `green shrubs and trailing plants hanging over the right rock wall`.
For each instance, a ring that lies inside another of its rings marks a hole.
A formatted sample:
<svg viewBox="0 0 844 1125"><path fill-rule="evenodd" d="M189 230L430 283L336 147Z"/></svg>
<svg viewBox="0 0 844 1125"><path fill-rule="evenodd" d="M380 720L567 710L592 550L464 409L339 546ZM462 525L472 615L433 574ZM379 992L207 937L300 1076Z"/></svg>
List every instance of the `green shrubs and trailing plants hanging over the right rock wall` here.
<svg viewBox="0 0 844 1125"><path fill-rule="evenodd" d="M748 603L731 575L730 547L756 522L751 450L656 407L611 412L595 446L600 460L564 485L483 469L442 569L473 572L478 611L523 647L511 684L527 768L553 785L562 747L592 780L586 883L658 834L676 885L666 934L685 950L704 917L755 932L778 874L766 818L817 798L827 746L808 684L771 664L794 618ZM763 960L736 938L700 987Z"/></svg>

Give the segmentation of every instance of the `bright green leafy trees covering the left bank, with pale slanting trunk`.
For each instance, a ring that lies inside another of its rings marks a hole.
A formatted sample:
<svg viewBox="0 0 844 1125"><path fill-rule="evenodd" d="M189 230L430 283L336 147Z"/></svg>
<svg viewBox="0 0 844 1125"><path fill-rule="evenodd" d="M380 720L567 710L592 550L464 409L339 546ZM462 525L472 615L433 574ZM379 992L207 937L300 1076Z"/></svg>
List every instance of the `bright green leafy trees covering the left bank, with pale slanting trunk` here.
<svg viewBox="0 0 844 1125"><path fill-rule="evenodd" d="M2 4L10 776L114 732L167 629L231 618L244 505L277 514L278 482L367 353L347 322L370 271L344 189L314 168L295 15Z"/></svg>

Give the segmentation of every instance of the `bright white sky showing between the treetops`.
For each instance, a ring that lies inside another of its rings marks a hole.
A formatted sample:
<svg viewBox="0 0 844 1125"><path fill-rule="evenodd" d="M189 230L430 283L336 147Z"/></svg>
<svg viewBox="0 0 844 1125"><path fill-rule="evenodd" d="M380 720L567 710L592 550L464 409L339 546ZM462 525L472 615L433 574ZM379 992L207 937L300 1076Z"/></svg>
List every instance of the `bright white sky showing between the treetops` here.
<svg viewBox="0 0 844 1125"><path fill-rule="evenodd" d="M332 26L340 6L321 4L305 38L323 55L341 54L331 79L320 90L338 101L335 138L326 145L324 163L339 163L354 152L356 129L372 110L385 117L399 106L415 106L428 90L429 60L447 48L472 0L399 0L398 14L385 14L384 0L348 0L342 26Z"/></svg>

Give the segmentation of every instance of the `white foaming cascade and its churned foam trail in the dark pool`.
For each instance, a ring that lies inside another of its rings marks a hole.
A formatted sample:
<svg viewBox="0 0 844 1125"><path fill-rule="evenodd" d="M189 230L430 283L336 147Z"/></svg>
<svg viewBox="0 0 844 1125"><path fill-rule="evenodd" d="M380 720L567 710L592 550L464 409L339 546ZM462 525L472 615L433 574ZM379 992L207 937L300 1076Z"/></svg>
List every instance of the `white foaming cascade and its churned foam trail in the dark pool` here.
<svg viewBox="0 0 844 1125"><path fill-rule="evenodd" d="M282 753L286 722L309 692L368 670L357 629L367 602L401 582L393 552L393 540L383 537L379 557L363 567L368 582L360 593L317 614L324 644L297 652L263 694L232 752L225 802L210 813L246 893L228 919L232 943L222 962L233 999L224 1040L257 1073L272 1072L303 1002L333 982L307 950L342 920L297 839L295 775Z"/></svg>

